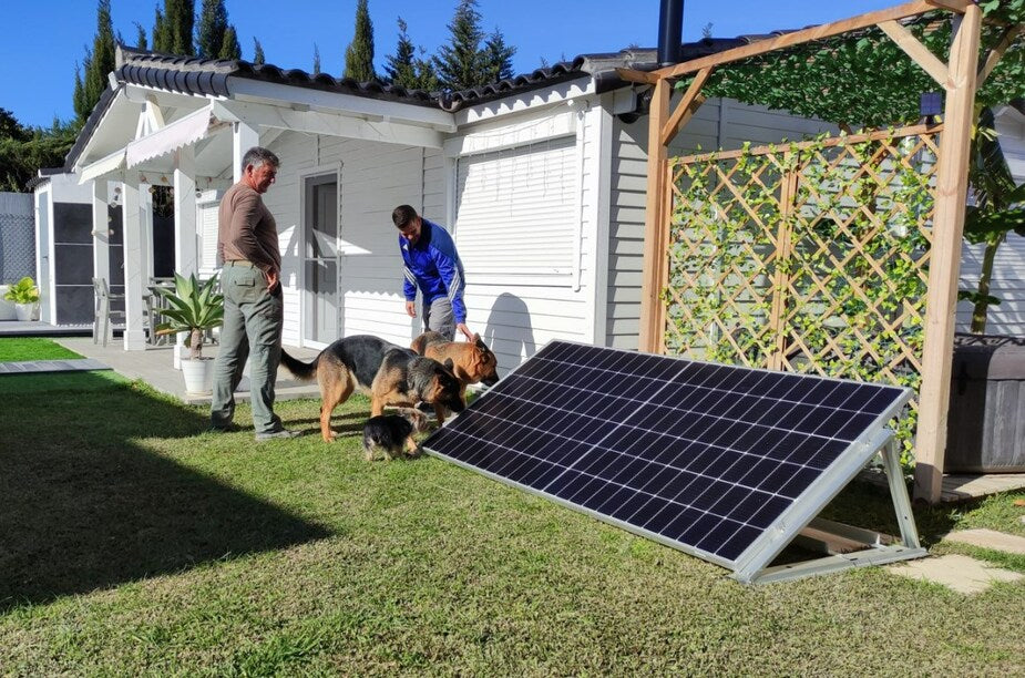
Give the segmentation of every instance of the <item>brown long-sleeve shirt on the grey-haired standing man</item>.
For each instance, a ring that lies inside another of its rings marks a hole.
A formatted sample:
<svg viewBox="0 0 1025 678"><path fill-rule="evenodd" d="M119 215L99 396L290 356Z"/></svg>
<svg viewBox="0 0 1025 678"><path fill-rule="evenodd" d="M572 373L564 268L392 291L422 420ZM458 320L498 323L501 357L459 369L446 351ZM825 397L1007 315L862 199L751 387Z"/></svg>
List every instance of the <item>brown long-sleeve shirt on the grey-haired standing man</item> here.
<svg viewBox="0 0 1025 678"><path fill-rule="evenodd" d="M274 216L259 193L239 182L221 201L217 225L217 258L245 259L264 273L281 271L278 230Z"/></svg>

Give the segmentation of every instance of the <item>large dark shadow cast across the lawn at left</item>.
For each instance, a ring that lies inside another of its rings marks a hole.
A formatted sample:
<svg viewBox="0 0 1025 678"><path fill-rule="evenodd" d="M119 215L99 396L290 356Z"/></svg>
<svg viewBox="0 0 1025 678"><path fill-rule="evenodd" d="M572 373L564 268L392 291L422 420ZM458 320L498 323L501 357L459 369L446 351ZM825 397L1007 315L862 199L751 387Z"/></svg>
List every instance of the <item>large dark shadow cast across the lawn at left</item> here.
<svg viewBox="0 0 1025 678"><path fill-rule="evenodd" d="M195 411L89 372L40 383L0 378L0 612L331 534L133 442L199 449Z"/></svg>

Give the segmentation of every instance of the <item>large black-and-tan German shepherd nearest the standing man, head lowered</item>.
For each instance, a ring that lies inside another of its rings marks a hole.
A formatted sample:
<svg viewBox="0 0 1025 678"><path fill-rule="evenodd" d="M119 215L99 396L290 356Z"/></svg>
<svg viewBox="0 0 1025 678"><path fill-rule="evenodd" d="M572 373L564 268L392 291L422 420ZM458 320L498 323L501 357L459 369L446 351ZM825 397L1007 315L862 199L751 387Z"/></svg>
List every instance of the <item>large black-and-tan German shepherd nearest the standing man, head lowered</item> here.
<svg viewBox="0 0 1025 678"><path fill-rule="evenodd" d="M325 442L335 440L331 411L356 389L370 396L371 417L380 415L385 405L413 407L418 402L433 404L435 412L465 409L451 360L442 363L369 335L339 339L310 363L281 351L281 364L298 379L316 377L320 384L320 435Z"/></svg>

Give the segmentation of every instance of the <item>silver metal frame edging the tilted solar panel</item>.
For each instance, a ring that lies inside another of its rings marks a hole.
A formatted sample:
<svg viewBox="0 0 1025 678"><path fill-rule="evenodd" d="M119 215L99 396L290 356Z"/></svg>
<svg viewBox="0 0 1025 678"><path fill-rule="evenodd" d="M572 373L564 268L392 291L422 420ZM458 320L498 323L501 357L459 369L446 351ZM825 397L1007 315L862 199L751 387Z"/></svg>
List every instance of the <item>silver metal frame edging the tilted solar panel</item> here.
<svg viewBox="0 0 1025 678"><path fill-rule="evenodd" d="M554 340L554 341L550 341L541 351L537 352L537 355L535 355L534 358L536 358L537 356L542 356L544 351L549 349L550 347L552 347L553 345L566 345L570 347L575 346L575 347L583 347L587 349L598 348L598 347L593 347L586 343L564 341L564 340ZM714 362L689 360L689 359L672 357L672 356L654 356L649 353L639 353L637 351L631 351L626 349L602 348L601 350L614 351L614 352L618 352L624 356L627 356L629 358L633 358L634 359L633 362L635 364L640 364L644 362L645 357L650 357L650 358L656 358L658 360L679 361L679 362L688 363L691 366L697 366L698 370L706 370L708 372L707 374L708 379L710 379L711 376L715 374L715 372L719 371L721 368L725 368L735 373L741 373L742 374L741 379L747 379L751 376L768 374L768 376L771 376L773 379L778 380L778 383L773 388L777 388L777 387L783 388L785 384L789 383L790 389L792 389L797 384L802 383L802 381L807 382L810 379L813 379L817 381L817 387L822 383L862 384L862 382L852 382L850 380L834 379L834 378L829 378L829 377L796 374L792 372L779 372L779 371L759 369L759 368L724 366L724 364L714 363ZM522 362L520 366L511 370L509 374L506 374L506 377L502 381L499 382L499 386L493 387L491 390L485 392L481 398L474 401L474 403L471 403L467 412L472 412L474 411L474 408L480 408L481 403L485 402L484 399L489 398L489 396L491 396L492 392L496 390L502 391L501 387L503 386L503 383L508 384L511 378L513 378L514 376L519 376L521 374L521 372L532 369L531 366L532 366L532 359ZM571 366L571 369L572 369L572 366ZM793 380L782 379L781 376L792 377ZM644 374L642 374L640 378L642 379L645 378ZM688 383L686 386L694 387L693 383ZM854 475L862 468L864 468L864 465L872 458L872 455L874 455L877 452L883 449L888 444L888 441L892 438L892 432L890 432L885 428L885 424L891 419L899 415L901 409L910 401L912 397L912 391L906 388L893 387L891 384L870 384L870 386L879 386L884 389L892 389L895 393L893 401L880 414L875 415L871 420L871 422L862 425L860 429L861 432L857 436L854 436L853 440L849 444L847 444L844 449L841 450L837 454L836 459L824 470L821 470L818 473L817 477L814 477L814 480L812 480L810 484L799 495L797 495L792 500L788 500L789 506L783 508L782 512L779 513L779 515L773 521L771 521L767 526L761 528L761 533L757 537L755 537L750 542L750 544L746 548L744 548L736 557L724 557L722 555L719 555L713 551L709 551L707 548L701 548L700 546L697 545L701 543L700 541L697 544L690 544L684 541L666 537L665 535L659 534L658 532L646 530L645 527L627 522L626 520L617 518L615 515L612 515L611 513L603 513L601 511L596 511L586 505L583 505L582 503L576 503L567 499L564 499L563 496L560 496L558 494L555 494L553 492L546 492L546 491L540 490L539 487L530 483L520 482L522 480L526 480L525 476L517 477L515 473L512 473L512 476L510 476L510 474L499 472L501 471L501 469L489 470L488 468L478 465L476 463L468 462L462 459L457 459L454 456L448 455L431 446L431 441L434 438L433 434L423 442L423 449L434 456L444 459L451 463L454 463L464 469L480 473L498 482L511 485L513 487L517 487L520 490L523 490L525 492L529 492L537 496L542 496L549 501L561 504L567 508L577 511L585 515L590 515L591 517L594 517L605 523L615 525L631 533L644 536L645 538L653 540L655 542L658 542L672 548L676 548L678 551L683 551L684 553L688 553L690 555L700 557L708 562L715 563L721 567L732 569L736 573L737 578L740 578L741 581L751 581L757 575L757 573L762 571L779 554L779 552L782 551L787 546L787 544L790 543L793 536L796 536L796 534L800 530L802 530L816 515L818 515L818 513L826 506L826 504L828 504L828 502L833 496L836 496L854 477ZM565 389L565 388L574 388L574 387L566 387L565 384L556 384L555 387L553 387L553 390ZM598 391L591 391L590 393L595 394L597 397L602 396L602 393ZM655 400L659 393L660 391L656 390L652 396L649 396L649 398L646 401L638 400L637 402L643 402L643 404L649 405L650 401ZM899 396L896 393L899 393ZM502 393L494 392L493 397L502 397ZM725 396L722 398L725 398ZM629 399L625 399L621 397L614 400L622 401L622 400L629 400ZM735 407L735 405L730 405L730 407ZM558 410L558 408L553 408L553 409ZM566 412L565 410L560 410L560 411ZM639 411L642 410L638 408L634 410L634 412L632 412L631 415ZM770 414L771 414L771 410L765 417L769 417ZM459 417L464 417L464 414L460 414ZM804 421L804 419L807 419L807 417L802 418L800 421ZM447 427L453 425L455 421L458 421L458 418L449 420L447 422ZM619 422L618 424L613 424L614 430L616 425L622 427L622 422ZM823 425L826 424L824 423L818 424L816 430L821 429ZM539 432L551 435L551 431L539 430ZM612 432L614 431L609 431L608 434L612 434ZM727 432L729 432L729 428L724 430L720 433L720 435L725 435ZM598 444L601 444L602 440L599 440L596 443L588 442L584 446L591 450L595 450L598 446ZM578 442L578 441L574 441L574 442ZM567 454L572 454L572 453L567 453ZM484 453L484 455L486 455L486 452ZM576 461L574 461L573 464L571 464L567 469L565 469L565 471L572 470L576 463L580 463L586 456L587 456L586 452L577 453ZM483 456L481 456L480 459L483 459ZM565 471L561 473L564 473ZM532 471L531 473L535 473L535 472L536 471ZM542 473L541 475L534 477L534 480L536 480L537 477L544 477L544 474ZM591 482L593 481L586 481L583 489L586 489L586 485L590 484ZM577 492L577 494L581 494L581 492ZM611 499L614 499L615 494L617 493L614 493L607 501L611 501ZM727 497L711 497L711 499L714 499L714 501L717 501L717 502L727 501Z"/></svg>

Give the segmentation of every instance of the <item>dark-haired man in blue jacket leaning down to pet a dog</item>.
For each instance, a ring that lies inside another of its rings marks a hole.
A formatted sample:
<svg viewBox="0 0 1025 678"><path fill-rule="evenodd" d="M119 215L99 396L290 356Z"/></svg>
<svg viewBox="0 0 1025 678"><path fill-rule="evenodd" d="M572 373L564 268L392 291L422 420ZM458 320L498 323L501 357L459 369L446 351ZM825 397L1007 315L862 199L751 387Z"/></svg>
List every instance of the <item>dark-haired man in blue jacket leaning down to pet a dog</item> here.
<svg viewBox="0 0 1025 678"><path fill-rule="evenodd" d="M417 288L422 296L423 329L434 330L451 341L458 329L468 340L473 332L467 327L463 304L463 265L455 243L444 228L421 218L409 205L391 213L399 229L399 248L406 264L406 312L417 317Z"/></svg>

